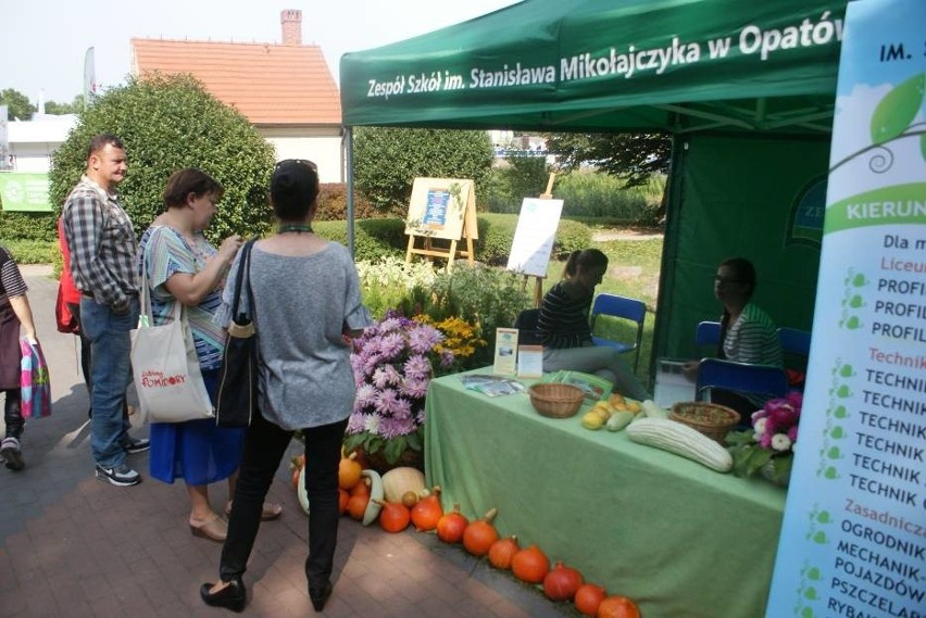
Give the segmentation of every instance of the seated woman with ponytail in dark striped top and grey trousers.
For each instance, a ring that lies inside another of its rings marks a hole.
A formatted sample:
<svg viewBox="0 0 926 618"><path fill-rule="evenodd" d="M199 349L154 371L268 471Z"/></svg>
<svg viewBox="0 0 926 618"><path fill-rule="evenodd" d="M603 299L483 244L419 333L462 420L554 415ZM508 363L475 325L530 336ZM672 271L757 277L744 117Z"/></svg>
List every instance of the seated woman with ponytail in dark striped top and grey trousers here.
<svg viewBox="0 0 926 618"><path fill-rule="evenodd" d="M621 353L593 345L589 310L595 288L608 272L608 256L598 249L573 251L563 279L543 297L537 336L543 343L543 370L593 374L614 384L614 391L636 400L652 399Z"/></svg>

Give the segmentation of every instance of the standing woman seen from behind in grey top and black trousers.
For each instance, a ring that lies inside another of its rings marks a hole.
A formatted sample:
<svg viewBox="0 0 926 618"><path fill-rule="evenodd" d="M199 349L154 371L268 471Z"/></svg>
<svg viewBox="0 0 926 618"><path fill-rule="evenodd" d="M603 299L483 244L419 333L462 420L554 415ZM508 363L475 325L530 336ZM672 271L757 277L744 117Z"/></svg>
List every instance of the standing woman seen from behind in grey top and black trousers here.
<svg viewBox="0 0 926 618"><path fill-rule="evenodd" d="M371 325L361 304L353 257L342 245L312 232L318 175L308 161L281 161L271 178L276 235L251 249L248 280L260 351L260 414L245 438L245 458L235 488L228 535L216 583L204 583L207 605L241 611L241 577L261 520L261 505L295 430L305 447L309 515L309 597L321 611L331 594L337 544L338 465L356 392L345 336ZM232 266L216 320L228 324L239 255ZM242 300L247 295L242 293Z"/></svg>

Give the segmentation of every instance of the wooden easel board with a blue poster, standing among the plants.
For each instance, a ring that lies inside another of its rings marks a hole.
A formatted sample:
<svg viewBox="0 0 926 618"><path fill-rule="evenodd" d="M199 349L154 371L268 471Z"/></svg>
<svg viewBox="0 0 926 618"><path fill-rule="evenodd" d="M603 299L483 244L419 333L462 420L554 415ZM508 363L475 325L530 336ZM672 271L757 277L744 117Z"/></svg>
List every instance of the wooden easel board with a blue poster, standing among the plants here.
<svg viewBox="0 0 926 618"><path fill-rule="evenodd" d="M472 266L473 240L479 238L473 181L415 178L405 234L409 236L405 264L411 263L412 255L424 255L428 260L447 260L448 272L459 257L466 257ZM417 239L422 240L421 247L417 245ZM466 249L458 249L456 243L461 239L466 240Z"/></svg>

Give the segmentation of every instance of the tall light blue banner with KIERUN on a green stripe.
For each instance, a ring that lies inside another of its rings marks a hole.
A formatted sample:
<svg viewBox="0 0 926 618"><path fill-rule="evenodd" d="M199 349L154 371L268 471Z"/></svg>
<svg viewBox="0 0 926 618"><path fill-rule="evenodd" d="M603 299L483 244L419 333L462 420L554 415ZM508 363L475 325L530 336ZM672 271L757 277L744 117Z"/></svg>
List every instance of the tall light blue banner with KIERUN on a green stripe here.
<svg viewBox="0 0 926 618"><path fill-rule="evenodd" d="M926 616L923 24L922 0L847 8L814 345L768 618Z"/></svg>

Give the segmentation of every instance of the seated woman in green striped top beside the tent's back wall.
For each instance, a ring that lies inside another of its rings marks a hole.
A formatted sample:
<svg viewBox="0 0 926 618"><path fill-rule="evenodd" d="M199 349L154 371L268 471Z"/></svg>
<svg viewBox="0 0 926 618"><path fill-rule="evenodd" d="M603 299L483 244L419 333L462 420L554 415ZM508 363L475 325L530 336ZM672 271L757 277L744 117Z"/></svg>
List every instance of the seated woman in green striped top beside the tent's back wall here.
<svg viewBox="0 0 926 618"><path fill-rule="evenodd" d="M717 356L737 363L780 367L784 353L775 323L751 302L755 282L755 267L749 260L730 257L717 267L714 295L724 305ZM685 365L685 374L692 380L698 375L698 365L697 361ZM722 389L712 389L711 401L734 408L743 422L765 403L755 395Z"/></svg>

